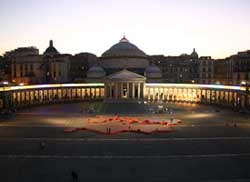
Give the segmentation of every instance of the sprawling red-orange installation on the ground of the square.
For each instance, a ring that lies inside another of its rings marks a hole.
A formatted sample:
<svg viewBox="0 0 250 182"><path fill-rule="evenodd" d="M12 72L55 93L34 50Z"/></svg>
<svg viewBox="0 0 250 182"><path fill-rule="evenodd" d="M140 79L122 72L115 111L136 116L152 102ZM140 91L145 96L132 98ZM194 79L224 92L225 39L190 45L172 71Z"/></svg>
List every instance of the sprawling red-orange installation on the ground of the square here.
<svg viewBox="0 0 250 182"><path fill-rule="evenodd" d="M152 134L152 133L167 133L173 131L173 126L181 123L180 120L170 119L170 120L149 120L149 119L139 119L137 117L122 117L122 116L96 116L95 118L87 119L89 127L75 127L67 128L64 130L65 133L72 133L76 131L91 131L98 134L104 135L114 135L119 133L133 132L140 134ZM113 127L108 126L108 124L115 125ZM101 129L95 126L100 126ZM125 125L125 126L124 126ZM146 125L154 126L154 128L145 129ZM92 126L92 127L91 127Z"/></svg>

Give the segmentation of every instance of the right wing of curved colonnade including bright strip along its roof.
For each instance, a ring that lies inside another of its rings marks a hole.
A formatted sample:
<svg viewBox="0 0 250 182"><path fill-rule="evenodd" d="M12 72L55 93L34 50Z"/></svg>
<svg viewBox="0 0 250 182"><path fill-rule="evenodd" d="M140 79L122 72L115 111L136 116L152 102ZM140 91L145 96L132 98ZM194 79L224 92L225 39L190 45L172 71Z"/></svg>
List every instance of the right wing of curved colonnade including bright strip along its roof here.
<svg viewBox="0 0 250 182"><path fill-rule="evenodd" d="M249 108L247 87L206 84L146 84L148 101L206 103L233 108Z"/></svg>

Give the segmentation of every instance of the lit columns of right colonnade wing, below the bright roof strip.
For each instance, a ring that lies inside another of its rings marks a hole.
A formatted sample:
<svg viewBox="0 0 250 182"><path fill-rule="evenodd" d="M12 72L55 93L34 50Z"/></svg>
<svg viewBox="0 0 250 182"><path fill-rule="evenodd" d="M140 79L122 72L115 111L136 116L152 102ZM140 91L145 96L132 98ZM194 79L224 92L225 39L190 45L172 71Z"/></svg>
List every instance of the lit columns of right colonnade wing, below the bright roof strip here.
<svg viewBox="0 0 250 182"><path fill-rule="evenodd" d="M145 90L149 102L173 101L218 104L232 107L249 107L250 96L240 90L150 87Z"/></svg>

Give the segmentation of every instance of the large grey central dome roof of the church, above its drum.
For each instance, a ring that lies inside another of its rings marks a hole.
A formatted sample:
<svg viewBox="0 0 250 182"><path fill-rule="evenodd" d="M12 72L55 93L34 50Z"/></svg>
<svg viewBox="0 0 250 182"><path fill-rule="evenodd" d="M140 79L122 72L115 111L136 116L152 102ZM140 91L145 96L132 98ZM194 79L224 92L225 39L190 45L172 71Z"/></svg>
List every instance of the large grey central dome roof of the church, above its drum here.
<svg viewBox="0 0 250 182"><path fill-rule="evenodd" d="M137 46L130 43L124 36L120 42L113 45L110 49L102 54L103 58L110 57L142 57L145 58L147 55L140 50Z"/></svg>

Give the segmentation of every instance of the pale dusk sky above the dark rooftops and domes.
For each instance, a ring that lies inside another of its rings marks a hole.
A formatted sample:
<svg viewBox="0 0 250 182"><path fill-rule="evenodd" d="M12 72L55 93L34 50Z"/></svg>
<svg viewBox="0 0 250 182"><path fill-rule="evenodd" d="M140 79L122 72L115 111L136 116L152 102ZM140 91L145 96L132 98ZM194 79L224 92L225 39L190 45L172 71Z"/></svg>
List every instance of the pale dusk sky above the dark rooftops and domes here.
<svg viewBox="0 0 250 182"><path fill-rule="evenodd" d="M249 0L0 0L0 55L24 46L40 53L100 56L125 33L149 55L224 58L250 49Z"/></svg>

